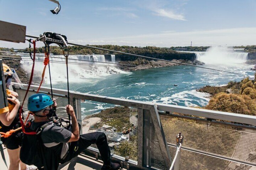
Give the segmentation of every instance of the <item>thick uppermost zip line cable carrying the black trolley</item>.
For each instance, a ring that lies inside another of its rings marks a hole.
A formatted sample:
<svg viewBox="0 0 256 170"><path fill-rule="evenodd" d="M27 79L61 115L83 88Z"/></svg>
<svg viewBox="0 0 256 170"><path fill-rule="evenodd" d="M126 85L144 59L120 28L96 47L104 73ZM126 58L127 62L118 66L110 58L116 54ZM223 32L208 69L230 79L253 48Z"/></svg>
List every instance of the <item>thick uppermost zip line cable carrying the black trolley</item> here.
<svg viewBox="0 0 256 170"><path fill-rule="evenodd" d="M40 39L40 37L37 37L37 36L26 35L26 37ZM234 73L234 72L223 71L223 70L218 70L218 69L211 69L211 68L201 67L201 66L194 66L194 65L179 63L179 62L175 62L175 61L169 61L169 60L158 59L158 58L153 58L153 57L146 57L146 56L143 56L143 55L130 54L130 53L125 53L125 52L121 52L121 51L108 50L108 49L105 49L105 48L92 47L92 46L89 46L89 45L80 45L80 44L74 44L74 43L68 43L68 44L69 45L76 45L76 46L80 46L80 47L86 47L86 48L93 48L93 49L102 50L102 51L109 51L109 52L114 52L114 53L126 54L126 55L135 56L135 57L148 58L148 59L152 59L152 60L159 60L159 61L165 61L165 62L170 62L170 63L176 63L176 64L181 64L181 65L186 65L186 66L193 66L193 67L198 67L198 68L203 68L203 69L208 69L208 70L215 70L215 71L220 71L220 72L243 75L241 73Z"/></svg>

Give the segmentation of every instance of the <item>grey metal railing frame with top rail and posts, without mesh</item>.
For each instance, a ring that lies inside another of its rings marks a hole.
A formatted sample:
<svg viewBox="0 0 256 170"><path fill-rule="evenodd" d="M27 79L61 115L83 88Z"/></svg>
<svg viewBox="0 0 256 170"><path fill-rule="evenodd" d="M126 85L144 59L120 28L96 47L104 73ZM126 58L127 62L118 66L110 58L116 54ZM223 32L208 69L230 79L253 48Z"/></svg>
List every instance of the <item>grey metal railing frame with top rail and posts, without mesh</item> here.
<svg viewBox="0 0 256 170"><path fill-rule="evenodd" d="M25 91L27 88L26 84L24 85L24 89L18 89L14 88L19 91ZM31 85L30 86L30 92L36 92L38 86L36 85ZM50 94L51 89L48 87L41 87L40 89L41 93L46 93ZM67 97L67 90L62 90L62 89L56 89L53 88L53 95L54 96L60 96L60 97ZM144 102L144 101L137 101L137 100L128 100L128 99L123 99L123 98L117 98L117 97L107 97L107 96L101 96L101 95L95 95L95 94L88 94L88 93L81 93L77 91L70 91L70 95L72 98L72 104L74 105L74 109L76 110L76 116L82 122L82 115L81 115L81 101L80 99L84 100L91 100L95 102L102 102L102 103L108 103L108 104L114 104L114 105L120 105L120 106L127 106L127 107L134 107L138 109L138 131L142 133L138 133L138 161L133 161L128 158L128 160L124 159L122 156L118 155L113 155L113 158L116 160L119 160L124 166L128 167L133 166L137 167L140 169L148 169L150 168L156 168L154 166L151 166L152 163L150 162L151 159L151 147L153 146L153 143L151 144L151 138L152 138L152 130L156 132L157 140L159 143L159 147L162 152L163 160L165 160L165 164L167 169L171 167L171 163L174 164L174 167L178 167L178 165L175 164L175 157L174 161L168 163L168 154L169 150L168 147L174 147L176 145L167 143L165 139L165 134L161 125L161 120L159 117L159 114L164 114L166 116L170 116L172 118L175 116L175 114L172 113L182 113L185 115L193 115L193 116L198 116L198 117L204 117L204 118L211 118L211 119L220 119L220 120L227 120L230 122L238 122L238 123L243 123L245 125L243 128L251 128L251 130L255 129L255 126L250 126L250 125L255 125L255 120L256 116L250 116L250 115L242 115L242 114L237 114L237 113L227 113L227 112L220 112L220 111L214 111L214 110L206 110L206 109L199 109L199 108L192 108L192 107L184 107L184 106L176 106L176 105L171 105L171 104L161 104L161 103L153 103L153 102ZM80 111L79 111L80 110ZM170 112L171 114L168 113L163 113L162 111ZM80 113L78 113L80 112ZM162 112L162 113L161 113ZM179 117L181 115L177 115ZM189 117L185 116L185 119L194 119L194 117ZM201 118L196 118L196 119L201 119ZM149 121L151 120L151 121ZM206 119L202 119L204 121L207 121ZM216 121L217 122L217 121ZM225 125L230 125L233 126L234 124L229 123L229 122L217 122L217 123L223 123ZM144 133L143 129L148 129L151 131L150 133ZM160 135L162 134L162 136ZM177 149L177 148L176 148ZM182 146L181 150L184 151L189 151L191 153L197 153L200 155L204 156L210 156L212 158L217 158L225 161L230 161L234 163L241 163L243 165L248 165L248 166L256 166L255 163L253 162L248 162L247 160L242 160L242 159L236 159L230 156L226 155L219 155L218 153L211 153L211 152L206 152L202 148L201 150L195 149L195 148L190 148L190 147L184 147ZM88 148L87 149L88 153L93 153L98 155L98 150L95 150L94 148ZM168 154L166 154L168 153ZM177 152L178 153L178 152ZM180 154L180 153L179 153ZM144 156L143 156L144 155ZM145 158L146 159L145 159ZM171 157L170 157L171 160ZM177 164L179 164L179 159L176 160Z"/></svg>

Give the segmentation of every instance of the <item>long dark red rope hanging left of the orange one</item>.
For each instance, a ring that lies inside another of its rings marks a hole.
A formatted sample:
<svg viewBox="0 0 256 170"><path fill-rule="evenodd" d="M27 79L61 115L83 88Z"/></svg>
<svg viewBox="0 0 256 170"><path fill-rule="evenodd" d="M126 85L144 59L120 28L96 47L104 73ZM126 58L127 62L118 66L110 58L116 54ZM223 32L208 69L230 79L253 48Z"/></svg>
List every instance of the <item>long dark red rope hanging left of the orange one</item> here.
<svg viewBox="0 0 256 170"><path fill-rule="evenodd" d="M22 113L22 108L23 108L23 105L24 105L24 101L27 97L27 94L28 94L28 91L29 91L29 88L30 88L30 85L32 83L32 78L33 78L33 74L34 74L34 66L35 66L35 55L36 55L36 41L34 40L33 41L33 45L34 45L34 57L33 57L33 66L32 66L32 70L31 70L31 74L30 74L30 79L29 79L29 83L28 83L28 87L27 87L27 91L26 91L26 94L25 94L25 97L24 97L24 100L22 102L22 105L21 105L21 108L20 108L20 112L19 112L19 117L20 117L20 121L21 121L21 127L22 127L22 131L24 134L37 134L36 132L26 132L25 131L25 125L27 124L27 119L29 117L29 114L27 116L27 119L25 121L25 123L23 122L22 120L22 116L21 116L21 113Z"/></svg>

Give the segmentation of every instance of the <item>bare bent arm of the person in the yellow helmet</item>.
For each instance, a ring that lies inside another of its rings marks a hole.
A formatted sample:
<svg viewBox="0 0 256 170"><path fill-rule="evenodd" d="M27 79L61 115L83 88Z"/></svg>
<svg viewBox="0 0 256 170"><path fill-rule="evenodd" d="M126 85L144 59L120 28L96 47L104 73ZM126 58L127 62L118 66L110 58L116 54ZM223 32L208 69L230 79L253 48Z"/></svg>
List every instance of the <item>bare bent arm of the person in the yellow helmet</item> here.
<svg viewBox="0 0 256 170"><path fill-rule="evenodd" d="M11 97L11 98L9 98ZM10 100L12 103L15 104L13 110L10 112L5 112L0 114L0 121L5 125L5 126L10 126L14 118L16 117L19 107L20 107L20 101L14 97L13 95L10 95L7 99Z"/></svg>

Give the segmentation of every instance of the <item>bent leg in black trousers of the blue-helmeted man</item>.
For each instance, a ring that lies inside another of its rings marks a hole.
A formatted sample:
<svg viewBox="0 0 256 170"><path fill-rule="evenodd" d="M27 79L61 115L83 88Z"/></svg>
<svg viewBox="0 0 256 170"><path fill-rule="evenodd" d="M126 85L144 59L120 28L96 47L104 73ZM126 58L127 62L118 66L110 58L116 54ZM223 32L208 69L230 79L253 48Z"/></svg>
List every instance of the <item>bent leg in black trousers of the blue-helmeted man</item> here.
<svg viewBox="0 0 256 170"><path fill-rule="evenodd" d="M104 165L110 165L111 152L107 144L107 137L102 132L93 132L80 135L79 140L74 142L73 146L71 146L71 149L73 150L72 158L80 154L83 150L92 144L97 145Z"/></svg>

